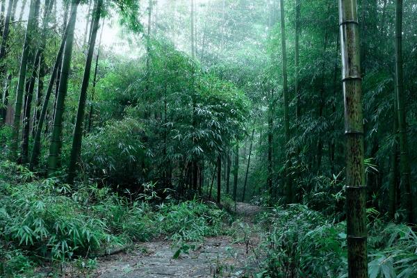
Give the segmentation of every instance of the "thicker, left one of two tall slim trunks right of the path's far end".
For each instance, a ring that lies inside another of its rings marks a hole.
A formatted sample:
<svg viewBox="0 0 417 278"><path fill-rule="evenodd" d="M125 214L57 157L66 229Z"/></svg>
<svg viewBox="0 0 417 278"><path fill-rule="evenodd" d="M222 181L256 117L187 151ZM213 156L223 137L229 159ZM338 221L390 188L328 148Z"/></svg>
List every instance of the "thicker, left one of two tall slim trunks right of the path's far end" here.
<svg viewBox="0 0 417 278"><path fill-rule="evenodd" d="M289 156L288 142L290 141L290 118L289 118L289 96L288 96L288 74L287 74L287 56L286 56L286 35L285 35L285 10L284 0L280 0L281 12L281 52L282 52L282 87L284 95L284 133L285 133L285 149L286 149L286 202L289 204L293 202L293 186L289 173L291 167L291 160Z"/></svg>

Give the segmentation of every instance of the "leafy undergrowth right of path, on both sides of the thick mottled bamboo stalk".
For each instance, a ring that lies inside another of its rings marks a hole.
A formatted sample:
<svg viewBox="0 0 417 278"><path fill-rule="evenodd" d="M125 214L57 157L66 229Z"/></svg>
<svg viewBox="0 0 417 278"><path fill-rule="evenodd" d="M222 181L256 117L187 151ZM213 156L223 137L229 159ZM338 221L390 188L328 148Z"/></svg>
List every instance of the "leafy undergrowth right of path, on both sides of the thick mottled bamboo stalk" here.
<svg viewBox="0 0 417 278"><path fill-rule="evenodd" d="M417 236L411 227L386 224L374 209L368 209L368 219L369 277L416 277ZM347 277L345 222L301 204L279 206L264 221L270 231L260 277Z"/></svg>

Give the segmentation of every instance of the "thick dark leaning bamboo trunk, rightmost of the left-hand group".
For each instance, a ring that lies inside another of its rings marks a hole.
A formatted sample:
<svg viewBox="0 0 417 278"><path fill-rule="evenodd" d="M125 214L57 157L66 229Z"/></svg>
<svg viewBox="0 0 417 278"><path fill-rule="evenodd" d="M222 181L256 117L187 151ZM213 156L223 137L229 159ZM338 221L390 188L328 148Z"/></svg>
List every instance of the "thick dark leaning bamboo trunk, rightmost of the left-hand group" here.
<svg viewBox="0 0 417 278"><path fill-rule="evenodd" d="M70 154L70 165L68 166L68 183L72 184L76 172L76 162L81 154L81 143L83 140L83 120L85 115L85 101L87 100L88 83L90 82L90 72L92 63L92 54L94 53L97 31L99 28L101 6L103 0L95 1L94 15L90 42L88 45L87 60L85 61L83 83L81 85L78 111L76 112L76 122L74 127L74 136L72 137L72 149Z"/></svg>

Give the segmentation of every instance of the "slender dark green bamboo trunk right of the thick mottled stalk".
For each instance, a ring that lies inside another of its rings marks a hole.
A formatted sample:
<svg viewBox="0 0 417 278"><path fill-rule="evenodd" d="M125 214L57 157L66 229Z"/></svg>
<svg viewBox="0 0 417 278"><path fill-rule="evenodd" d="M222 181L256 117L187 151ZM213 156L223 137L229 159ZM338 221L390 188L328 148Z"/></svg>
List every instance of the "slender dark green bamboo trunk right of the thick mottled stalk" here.
<svg viewBox="0 0 417 278"><path fill-rule="evenodd" d="M403 206L407 221L413 223L415 218L413 194L411 191L411 169L409 163L407 142L407 113L404 104L404 81L402 74L402 0L396 1L395 6L395 87L397 91L398 127L400 129L400 172L404 197Z"/></svg>

